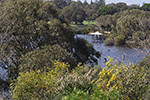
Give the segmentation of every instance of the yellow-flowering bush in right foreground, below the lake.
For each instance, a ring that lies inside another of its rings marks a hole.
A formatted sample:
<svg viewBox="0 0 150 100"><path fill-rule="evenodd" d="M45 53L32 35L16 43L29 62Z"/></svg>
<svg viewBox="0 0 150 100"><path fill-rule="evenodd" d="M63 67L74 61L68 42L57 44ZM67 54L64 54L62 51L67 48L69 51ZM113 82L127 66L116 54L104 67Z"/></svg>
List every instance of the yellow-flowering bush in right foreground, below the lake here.
<svg viewBox="0 0 150 100"><path fill-rule="evenodd" d="M144 99L150 83L149 75L150 69L146 66L118 64L109 57L106 67L99 73L96 84L101 87L101 91L120 91L122 99Z"/></svg>

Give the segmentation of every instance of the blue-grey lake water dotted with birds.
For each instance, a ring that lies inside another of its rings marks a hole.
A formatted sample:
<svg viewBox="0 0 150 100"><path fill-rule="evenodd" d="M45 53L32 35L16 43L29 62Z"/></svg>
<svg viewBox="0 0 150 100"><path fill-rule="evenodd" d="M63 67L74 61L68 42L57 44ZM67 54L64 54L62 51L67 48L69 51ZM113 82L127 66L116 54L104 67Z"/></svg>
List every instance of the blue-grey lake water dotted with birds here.
<svg viewBox="0 0 150 100"><path fill-rule="evenodd" d="M116 61L121 61L124 63L134 63L137 64L138 61L143 60L147 55L136 51L133 48L129 48L126 46L105 46L104 42L98 41L94 39L90 35L77 35L78 38L86 39L89 43L93 44L93 47L96 51L100 51L102 53L101 57L98 59L98 65L104 67L105 60L104 58L108 58L108 56L113 57Z"/></svg>

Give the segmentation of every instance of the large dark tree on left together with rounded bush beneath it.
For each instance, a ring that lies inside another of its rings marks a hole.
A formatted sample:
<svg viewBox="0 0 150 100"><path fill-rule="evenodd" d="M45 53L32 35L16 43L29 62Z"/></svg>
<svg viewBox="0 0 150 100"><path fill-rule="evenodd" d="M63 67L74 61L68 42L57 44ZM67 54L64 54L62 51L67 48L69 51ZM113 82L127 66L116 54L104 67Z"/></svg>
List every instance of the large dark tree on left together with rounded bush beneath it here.
<svg viewBox="0 0 150 100"><path fill-rule="evenodd" d="M0 9L0 60L8 81L17 78L24 66L44 70L58 60L69 62L73 68L78 62L92 61L96 53L92 45L74 39L74 32L59 18L52 2L8 0Z"/></svg>

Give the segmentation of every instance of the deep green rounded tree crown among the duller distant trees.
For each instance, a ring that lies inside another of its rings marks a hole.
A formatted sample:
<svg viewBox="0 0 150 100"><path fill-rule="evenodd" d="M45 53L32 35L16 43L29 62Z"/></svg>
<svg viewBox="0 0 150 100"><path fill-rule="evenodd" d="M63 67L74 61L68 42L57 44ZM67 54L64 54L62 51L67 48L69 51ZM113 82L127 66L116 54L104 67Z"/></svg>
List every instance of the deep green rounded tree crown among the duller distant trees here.
<svg viewBox="0 0 150 100"><path fill-rule="evenodd" d="M117 12L117 8L109 7L109 6L102 6L98 10L99 15L107 15L107 14L114 14Z"/></svg>

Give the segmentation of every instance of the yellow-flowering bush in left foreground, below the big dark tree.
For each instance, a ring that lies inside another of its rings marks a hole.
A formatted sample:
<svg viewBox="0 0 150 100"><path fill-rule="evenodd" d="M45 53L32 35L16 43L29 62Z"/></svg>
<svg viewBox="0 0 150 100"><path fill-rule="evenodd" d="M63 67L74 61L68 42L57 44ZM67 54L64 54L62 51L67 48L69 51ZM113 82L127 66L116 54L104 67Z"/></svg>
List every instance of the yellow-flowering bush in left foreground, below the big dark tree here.
<svg viewBox="0 0 150 100"><path fill-rule="evenodd" d="M68 64L56 61L48 72L30 71L20 73L10 84L11 94L17 100L47 100L55 93L55 80L68 71Z"/></svg>

